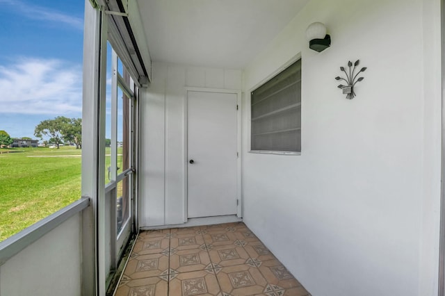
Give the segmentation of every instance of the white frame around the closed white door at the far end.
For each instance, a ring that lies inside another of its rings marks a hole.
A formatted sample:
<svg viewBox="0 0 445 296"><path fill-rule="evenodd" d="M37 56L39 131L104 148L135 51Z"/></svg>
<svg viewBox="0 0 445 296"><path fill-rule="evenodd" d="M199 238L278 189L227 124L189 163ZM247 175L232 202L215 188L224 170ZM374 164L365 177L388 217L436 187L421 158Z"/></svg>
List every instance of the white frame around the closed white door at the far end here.
<svg viewBox="0 0 445 296"><path fill-rule="evenodd" d="M184 89L184 162L183 162L183 172L184 172L184 223L188 221L188 92L213 92L213 93L224 93L224 94L236 94L236 105L238 106L238 113L236 115L237 119L237 129L236 129L236 147L238 150L238 158L236 160L236 199L238 200L238 205L236 206L236 217L243 217L243 199L241 195L241 90L227 90L220 88L193 88L186 87Z"/></svg>

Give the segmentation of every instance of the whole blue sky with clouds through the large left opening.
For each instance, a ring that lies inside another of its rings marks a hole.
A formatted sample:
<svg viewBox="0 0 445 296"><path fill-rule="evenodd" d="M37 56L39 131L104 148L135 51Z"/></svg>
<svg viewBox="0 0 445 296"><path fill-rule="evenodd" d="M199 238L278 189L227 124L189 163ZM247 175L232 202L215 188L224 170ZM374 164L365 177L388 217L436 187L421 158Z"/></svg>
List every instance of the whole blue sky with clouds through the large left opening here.
<svg viewBox="0 0 445 296"><path fill-rule="evenodd" d="M83 0L0 0L0 130L81 117Z"/></svg>

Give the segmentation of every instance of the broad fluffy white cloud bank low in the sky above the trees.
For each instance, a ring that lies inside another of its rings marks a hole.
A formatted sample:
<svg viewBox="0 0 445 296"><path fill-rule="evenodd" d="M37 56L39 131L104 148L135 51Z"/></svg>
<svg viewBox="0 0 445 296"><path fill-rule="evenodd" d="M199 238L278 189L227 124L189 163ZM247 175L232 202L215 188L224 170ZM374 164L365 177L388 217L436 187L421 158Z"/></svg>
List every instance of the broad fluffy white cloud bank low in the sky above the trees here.
<svg viewBox="0 0 445 296"><path fill-rule="evenodd" d="M81 67L61 60L19 59L0 66L0 113L81 113Z"/></svg>

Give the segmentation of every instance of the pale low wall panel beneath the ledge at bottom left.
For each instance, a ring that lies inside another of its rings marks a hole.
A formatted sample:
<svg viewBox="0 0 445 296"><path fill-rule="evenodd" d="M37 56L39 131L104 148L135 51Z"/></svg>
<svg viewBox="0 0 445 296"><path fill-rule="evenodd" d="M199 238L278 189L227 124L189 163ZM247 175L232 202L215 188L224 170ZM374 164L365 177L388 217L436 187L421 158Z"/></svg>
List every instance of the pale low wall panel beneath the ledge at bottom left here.
<svg viewBox="0 0 445 296"><path fill-rule="evenodd" d="M0 295L81 295L81 213L0 267Z"/></svg>

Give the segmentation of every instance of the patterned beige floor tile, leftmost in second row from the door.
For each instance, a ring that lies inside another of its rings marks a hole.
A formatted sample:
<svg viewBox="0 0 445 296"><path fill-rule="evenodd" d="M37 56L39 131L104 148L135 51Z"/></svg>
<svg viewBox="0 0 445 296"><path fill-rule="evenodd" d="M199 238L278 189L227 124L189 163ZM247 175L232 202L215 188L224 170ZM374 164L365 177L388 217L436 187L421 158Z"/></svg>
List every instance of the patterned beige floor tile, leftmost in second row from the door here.
<svg viewBox="0 0 445 296"><path fill-rule="evenodd" d="M149 254L131 256L124 271L124 279L156 277L168 270L168 256Z"/></svg>

